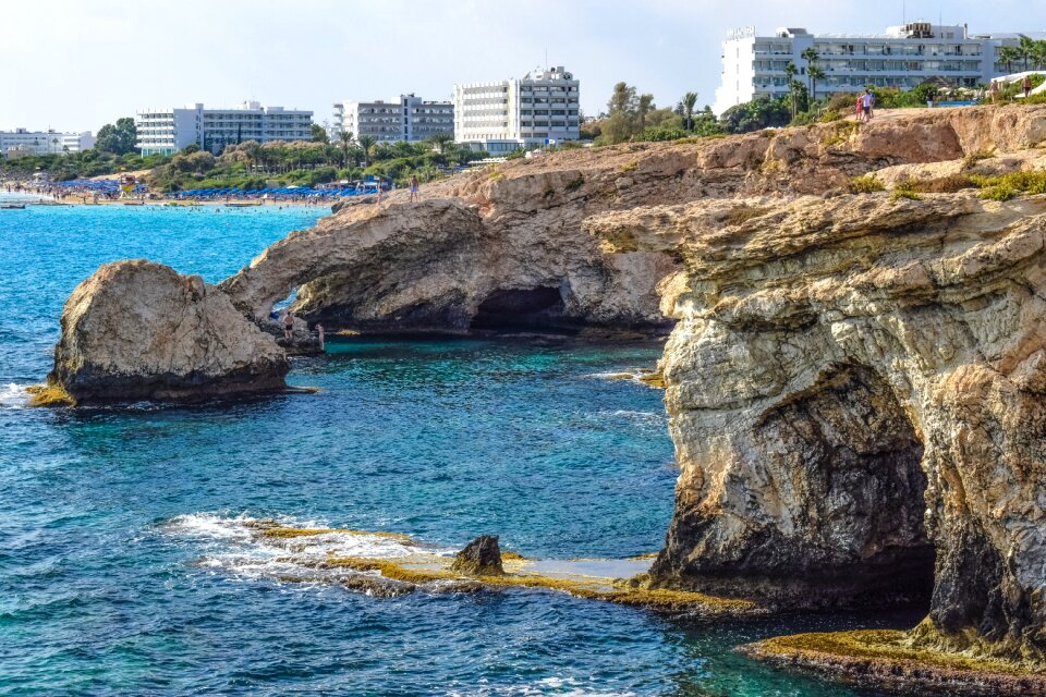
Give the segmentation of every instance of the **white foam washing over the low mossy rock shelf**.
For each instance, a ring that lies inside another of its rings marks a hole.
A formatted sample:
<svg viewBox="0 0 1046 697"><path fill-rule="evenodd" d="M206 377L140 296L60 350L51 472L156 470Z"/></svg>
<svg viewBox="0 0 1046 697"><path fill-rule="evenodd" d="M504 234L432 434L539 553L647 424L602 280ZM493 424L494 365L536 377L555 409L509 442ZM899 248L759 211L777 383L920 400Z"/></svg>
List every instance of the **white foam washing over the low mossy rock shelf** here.
<svg viewBox="0 0 1046 697"><path fill-rule="evenodd" d="M266 526L327 528L326 523L281 517L255 518L214 513L179 515L160 530L194 546L202 557L196 565L235 579L293 579L330 583L346 576L368 574L350 568L323 568L330 557L403 559L417 554L446 554L450 549L422 547L406 539L331 530L301 537L264 535Z"/></svg>

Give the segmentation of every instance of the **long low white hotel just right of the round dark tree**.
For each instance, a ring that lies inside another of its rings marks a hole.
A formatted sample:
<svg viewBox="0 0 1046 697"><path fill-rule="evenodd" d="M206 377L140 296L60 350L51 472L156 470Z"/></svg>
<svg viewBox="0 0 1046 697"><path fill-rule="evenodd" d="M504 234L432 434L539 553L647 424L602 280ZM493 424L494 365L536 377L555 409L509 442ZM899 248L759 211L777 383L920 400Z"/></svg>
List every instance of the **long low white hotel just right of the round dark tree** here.
<svg viewBox="0 0 1046 697"><path fill-rule="evenodd" d="M245 101L229 109L196 103L182 109L142 109L135 115L142 155L173 155L195 143L215 154L245 140L308 140L313 112Z"/></svg>

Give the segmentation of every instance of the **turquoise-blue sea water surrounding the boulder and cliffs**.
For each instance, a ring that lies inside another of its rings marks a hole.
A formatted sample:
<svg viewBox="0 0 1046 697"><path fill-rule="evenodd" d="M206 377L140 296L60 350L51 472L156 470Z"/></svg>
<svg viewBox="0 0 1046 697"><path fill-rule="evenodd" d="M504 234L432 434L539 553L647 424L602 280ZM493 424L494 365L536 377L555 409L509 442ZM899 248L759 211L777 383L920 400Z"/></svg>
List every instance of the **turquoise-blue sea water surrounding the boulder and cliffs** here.
<svg viewBox="0 0 1046 697"><path fill-rule="evenodd" d="M247 527L655 551L677 476L661 394L606 374L649 367L657 343L344 341L294 363L315 395L25 407L64 298L98 265L148 257L217 281L317 215L0 211L0 695L859 694L731 649L891 619L704 624L527 589L372 598L288 582L287 549Z"/></svg>

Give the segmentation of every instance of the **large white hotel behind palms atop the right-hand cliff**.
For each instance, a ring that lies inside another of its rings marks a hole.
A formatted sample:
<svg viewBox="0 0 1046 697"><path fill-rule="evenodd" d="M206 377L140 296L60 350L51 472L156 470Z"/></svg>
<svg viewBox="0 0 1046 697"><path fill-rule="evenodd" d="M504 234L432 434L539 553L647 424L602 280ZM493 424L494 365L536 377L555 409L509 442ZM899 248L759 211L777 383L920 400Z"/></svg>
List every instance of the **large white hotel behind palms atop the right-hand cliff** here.
<svg viewBox="0 0 1046 697"><path fill-rule="evenodd" d="M1015 34L971 35L964 25L928 22L888 27L879 35L780 28L759 36L755 27L737 29L722 44L722 83L713 110L722 113L759 96L787 95L789 63L795 65L795 80L807 84L810 64L802 54L810 48L825 74L815 87L822 99L868 86L911 89L931 78L958 87L987 84L1005 72L999 48L1018 41Z"/></svg>

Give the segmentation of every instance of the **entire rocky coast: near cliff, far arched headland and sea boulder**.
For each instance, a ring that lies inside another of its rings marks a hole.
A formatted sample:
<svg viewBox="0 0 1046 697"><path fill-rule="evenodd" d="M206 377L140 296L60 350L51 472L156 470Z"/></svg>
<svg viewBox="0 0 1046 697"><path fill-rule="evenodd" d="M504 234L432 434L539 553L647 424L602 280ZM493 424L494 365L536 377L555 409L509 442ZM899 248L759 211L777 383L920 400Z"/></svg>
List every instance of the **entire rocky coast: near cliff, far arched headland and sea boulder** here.
<svg viewBox="0 0 1046 697"><path fill-rule="evenodd" d="M283 389L256 322L294 291L353 331L672 326L681 476L646 587L923 599L889 639L901 663L869 662L867 634L746 650L883 684L958 685L957 657L984 662L971 685L1025 681L1046 661L1044 143L1046 108L963 108L508 162L344 206L218 286L104 267L50 382L81 403Z"/></svg>

